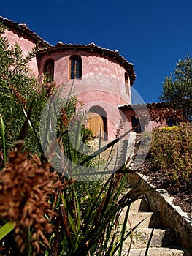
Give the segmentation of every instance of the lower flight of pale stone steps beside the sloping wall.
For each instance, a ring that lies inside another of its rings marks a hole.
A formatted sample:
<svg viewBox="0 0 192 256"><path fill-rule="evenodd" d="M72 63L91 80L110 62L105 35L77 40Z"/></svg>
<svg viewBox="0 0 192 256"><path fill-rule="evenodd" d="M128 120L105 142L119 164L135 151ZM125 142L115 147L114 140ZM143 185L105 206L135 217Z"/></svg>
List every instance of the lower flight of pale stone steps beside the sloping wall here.
<svg viewBox="0 0 192 256"><path fill-rule="evenodd" d="M126 214L126 208L121 213L122 221ZM138 223L141 224L133 231L132 236L128 237L123 243L122 255L145 256L148 241L150 247L147 256L191 256L190 249L185 249L175 244L174 231L168 228L161 228L161 218L158 213L149 211L146 197L131 203L128 214L127 229L133 229ZM131 249L129 249L131 244Z"/></svg>

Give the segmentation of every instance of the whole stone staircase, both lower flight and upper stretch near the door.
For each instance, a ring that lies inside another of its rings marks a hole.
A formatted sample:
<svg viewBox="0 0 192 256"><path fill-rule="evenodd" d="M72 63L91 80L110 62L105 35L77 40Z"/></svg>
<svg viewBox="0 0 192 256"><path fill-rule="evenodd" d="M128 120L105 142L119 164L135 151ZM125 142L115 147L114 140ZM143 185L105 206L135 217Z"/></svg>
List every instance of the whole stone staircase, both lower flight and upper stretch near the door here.
<svg viewBox="0 0 192 256"><path fill-rule="evenodd" d="M108 148L101 154L101 159L110 162L104 171L114 172L124 165L128 157L134 154L134 134L131 140L119 141L113 148ZM101 146L104 146L102 142ZM110 157L109 157L110 156ZM129 163L131 160L129 161ZM114 170L114 171L113 171ZM126 191L127 192L127 191ZM120 223L123 223L127 208L124 208L120 214ZM170 222L172 219L170 219ZM139 225L138 223L141 222ZM165 226L161 220L161 214L150 211L147 197L144 195L134 203L128 214L127 229L133 229L132 236L128 237L123 243L122 255L135 256L192 256L191 249L184 248L176 243L174 230ZM178 234L177 234L178 235ZM148 241L150 241L147 249ZM131 244L131 245L130 245ZM191 248L191 247L190 247ZM118 254L117 254L118 255Z"/></svg>

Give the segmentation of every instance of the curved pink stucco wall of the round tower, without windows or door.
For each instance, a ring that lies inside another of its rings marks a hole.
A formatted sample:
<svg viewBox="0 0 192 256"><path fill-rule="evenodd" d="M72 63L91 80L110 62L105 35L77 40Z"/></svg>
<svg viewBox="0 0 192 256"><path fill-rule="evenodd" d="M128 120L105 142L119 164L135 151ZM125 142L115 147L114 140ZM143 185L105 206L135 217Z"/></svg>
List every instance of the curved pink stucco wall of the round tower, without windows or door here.
<svg viewBox="0 0 192 256"><path fill-rule="evenodd" d="M69 58L77 55L82 58L82 79L69 79ZM99 105L107 112L108 140L115 139L115 133L120 125L118 105L131 103L131 97L126 93L125 72L115 59L100 56L98 53L86 50L57 51L42 56L39 65L39 75L43 74L47 59L53 59L54 80L57 85L73 86L75 94L83 103L85 110ZM128 79L128 89L130 83ZM130 94L130 90L128 90Z"/></svg>

